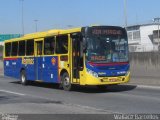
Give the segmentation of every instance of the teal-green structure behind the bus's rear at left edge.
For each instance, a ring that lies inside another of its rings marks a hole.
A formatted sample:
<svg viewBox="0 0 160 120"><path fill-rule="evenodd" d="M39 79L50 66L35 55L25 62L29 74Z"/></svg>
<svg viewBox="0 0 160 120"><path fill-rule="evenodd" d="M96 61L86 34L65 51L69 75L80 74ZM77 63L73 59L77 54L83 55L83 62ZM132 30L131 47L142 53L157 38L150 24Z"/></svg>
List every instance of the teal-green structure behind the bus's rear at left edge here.
<svg viewBox="0 0 160 120"><path fill-rule="evenodd" d="M21 36L21 34L0 34L0 45L3 45L5 40L19 38Z"/></svg>

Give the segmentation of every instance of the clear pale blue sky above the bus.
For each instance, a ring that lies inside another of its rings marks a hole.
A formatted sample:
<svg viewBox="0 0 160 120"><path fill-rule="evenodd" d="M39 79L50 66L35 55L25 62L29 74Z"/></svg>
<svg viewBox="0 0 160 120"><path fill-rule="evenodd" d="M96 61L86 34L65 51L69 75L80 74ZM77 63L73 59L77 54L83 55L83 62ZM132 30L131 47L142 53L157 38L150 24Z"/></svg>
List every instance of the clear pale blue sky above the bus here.
<svg viewBox="0 0 160 120"><path fill-rule="evenodd" d="M126 0L128 25L160 17L160 0ZM24 0L24 32L89 25L124 26L124 0ZM35 22L35 20L38 20ZM22 0L0 0L0 34L22 33Z"/></svg>

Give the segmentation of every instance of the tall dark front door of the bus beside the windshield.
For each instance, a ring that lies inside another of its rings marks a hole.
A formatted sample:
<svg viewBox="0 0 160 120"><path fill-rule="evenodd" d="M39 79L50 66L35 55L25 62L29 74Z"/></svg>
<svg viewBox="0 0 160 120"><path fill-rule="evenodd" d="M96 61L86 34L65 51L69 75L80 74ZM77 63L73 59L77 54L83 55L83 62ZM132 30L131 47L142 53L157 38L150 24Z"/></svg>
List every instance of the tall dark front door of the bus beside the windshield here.
<svg viewBox="0 0 160 120"><path fill-rule="evenodd" d="M82 37L78 33L72 34L71 37L72 37L72 50L73 50L72 52L73 82L79 83L80 71L83 70Z"/></svg>

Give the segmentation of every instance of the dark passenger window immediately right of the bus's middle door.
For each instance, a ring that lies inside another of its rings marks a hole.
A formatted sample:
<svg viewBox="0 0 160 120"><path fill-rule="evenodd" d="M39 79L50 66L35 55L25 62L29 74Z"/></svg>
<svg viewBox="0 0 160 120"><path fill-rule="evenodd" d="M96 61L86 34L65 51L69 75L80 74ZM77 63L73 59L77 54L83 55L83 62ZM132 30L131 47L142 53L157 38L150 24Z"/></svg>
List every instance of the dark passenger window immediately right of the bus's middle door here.
<svg viewBox="0 0 160 120"><path fill-rule="evenodd" d="M55 39L54 37L45 38L44 40L44 54L52 55L55 49Z"/></svg>

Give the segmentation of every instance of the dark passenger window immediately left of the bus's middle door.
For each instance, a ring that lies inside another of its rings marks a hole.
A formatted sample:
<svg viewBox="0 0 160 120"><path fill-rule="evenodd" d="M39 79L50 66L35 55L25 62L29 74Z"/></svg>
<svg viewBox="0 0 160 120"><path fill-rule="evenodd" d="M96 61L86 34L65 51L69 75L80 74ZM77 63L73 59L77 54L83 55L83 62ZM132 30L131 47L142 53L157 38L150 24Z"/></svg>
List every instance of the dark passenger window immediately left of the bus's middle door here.
<svg viewBox="0 0 160 120"><path fill-rule="evenodd" d="M26 55L34 55L34 41L27 40Z"/></svg>

